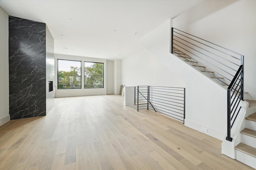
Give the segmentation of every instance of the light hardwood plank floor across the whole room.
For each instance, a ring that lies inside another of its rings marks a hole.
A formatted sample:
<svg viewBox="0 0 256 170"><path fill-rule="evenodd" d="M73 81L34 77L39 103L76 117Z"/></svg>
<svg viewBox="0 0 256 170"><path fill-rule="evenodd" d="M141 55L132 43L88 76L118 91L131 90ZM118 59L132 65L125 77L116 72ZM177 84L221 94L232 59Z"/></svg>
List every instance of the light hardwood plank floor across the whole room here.
<svg viewBox="0 0 256 170"><path fill-rule="evenodd" d="M0 127L0 170L249 170L221 141L115 95L56 98L44 117Z"/></svg>

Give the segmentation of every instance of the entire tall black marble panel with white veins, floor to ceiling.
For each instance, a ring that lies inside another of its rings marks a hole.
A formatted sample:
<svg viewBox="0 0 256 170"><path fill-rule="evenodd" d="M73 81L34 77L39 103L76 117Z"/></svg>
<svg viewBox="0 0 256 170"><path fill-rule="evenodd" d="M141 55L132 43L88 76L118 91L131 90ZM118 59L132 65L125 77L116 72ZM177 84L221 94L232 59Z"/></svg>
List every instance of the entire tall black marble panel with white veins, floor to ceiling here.
<svg viewBox="0 0 256 170"><path fill-rule="evenodd" d="M9 16L10 119L46 115L46 24Z"/></svg>

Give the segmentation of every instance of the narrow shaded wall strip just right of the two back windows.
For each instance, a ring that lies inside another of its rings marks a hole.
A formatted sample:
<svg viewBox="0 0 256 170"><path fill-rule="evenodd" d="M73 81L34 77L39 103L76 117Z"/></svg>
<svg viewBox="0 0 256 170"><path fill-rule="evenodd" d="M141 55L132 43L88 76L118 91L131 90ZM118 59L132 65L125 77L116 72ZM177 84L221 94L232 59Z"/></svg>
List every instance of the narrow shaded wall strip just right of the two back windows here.
<svg viewBox="0 0 256 170"><path fill-rule="evenodd" d="M107 60L107 94L114 94L114 61Z"/></svg>

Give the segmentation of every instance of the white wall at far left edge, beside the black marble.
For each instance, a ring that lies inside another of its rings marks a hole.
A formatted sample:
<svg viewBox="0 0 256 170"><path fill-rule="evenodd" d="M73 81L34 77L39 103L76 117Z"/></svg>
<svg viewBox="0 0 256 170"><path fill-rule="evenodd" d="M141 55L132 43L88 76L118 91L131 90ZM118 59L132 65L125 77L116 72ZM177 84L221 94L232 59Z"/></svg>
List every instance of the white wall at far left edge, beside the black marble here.
<svg viewBox="0 0 256 170"><path fill-rule="evenodd" d="M0 126L9 115L9 16L0 8Z"/></svg>

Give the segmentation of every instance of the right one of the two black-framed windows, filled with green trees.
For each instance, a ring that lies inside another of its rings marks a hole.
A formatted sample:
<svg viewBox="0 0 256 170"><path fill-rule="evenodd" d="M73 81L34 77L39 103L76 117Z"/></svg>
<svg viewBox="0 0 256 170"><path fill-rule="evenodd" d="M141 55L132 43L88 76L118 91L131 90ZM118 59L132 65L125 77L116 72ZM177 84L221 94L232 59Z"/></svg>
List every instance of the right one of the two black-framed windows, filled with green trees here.
<svg viewBox="0 0 256 170"><path fill-rule="evenodd" d="M84 62L84 88L103 88L103 63Z"/></svg>

